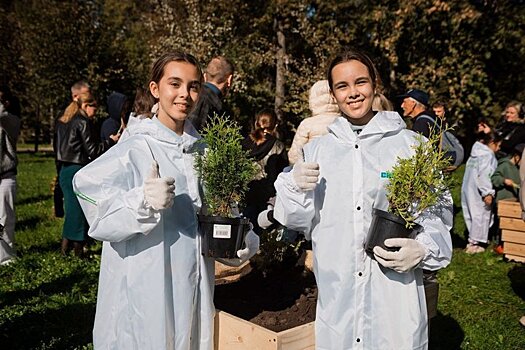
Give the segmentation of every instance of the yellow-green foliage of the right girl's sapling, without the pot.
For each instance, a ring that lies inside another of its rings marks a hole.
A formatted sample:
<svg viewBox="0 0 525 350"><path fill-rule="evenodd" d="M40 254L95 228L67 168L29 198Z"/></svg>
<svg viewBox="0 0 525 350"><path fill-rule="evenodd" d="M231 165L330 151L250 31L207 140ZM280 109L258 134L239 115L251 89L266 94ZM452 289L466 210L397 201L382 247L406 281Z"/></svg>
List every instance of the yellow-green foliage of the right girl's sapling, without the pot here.
<svg viewBox="0 0 525 350"><path fill-rule="evenodd" d="M388 212L406 221L412 228L415 220L426 209L437 204L452 185L449 173L451 159L439 147L442 133L432 128L428 140L417 136L413 146L415 153L410 158L399 158L392 168L386 185Z"/></svg>

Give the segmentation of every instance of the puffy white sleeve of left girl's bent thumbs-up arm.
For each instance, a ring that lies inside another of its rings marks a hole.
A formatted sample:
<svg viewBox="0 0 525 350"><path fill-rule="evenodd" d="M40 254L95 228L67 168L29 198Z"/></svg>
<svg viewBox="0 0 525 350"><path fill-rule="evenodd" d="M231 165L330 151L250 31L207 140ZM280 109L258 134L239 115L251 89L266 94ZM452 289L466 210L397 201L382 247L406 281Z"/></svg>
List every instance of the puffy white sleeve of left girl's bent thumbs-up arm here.
<svg viewBox="0 0 525 350"><path fill-rule="evenodd" d="M142 184L152 162L151 155L115 151L116 146L73 178L73 189L90 225L88 235L109 242L148 234L161 216L159 211L147 208L144 201ZM144 169L139 169L139 165Z"/></svg>

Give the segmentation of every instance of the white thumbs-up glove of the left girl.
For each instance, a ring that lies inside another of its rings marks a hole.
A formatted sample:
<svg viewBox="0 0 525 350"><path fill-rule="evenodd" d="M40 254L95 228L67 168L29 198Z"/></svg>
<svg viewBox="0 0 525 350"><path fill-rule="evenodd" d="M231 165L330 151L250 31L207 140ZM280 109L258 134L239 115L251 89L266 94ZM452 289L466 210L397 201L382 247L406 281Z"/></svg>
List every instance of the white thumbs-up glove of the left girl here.
<svg viewBox="0 0 525 350"><path fill-rule="evenodd" d="M160 177L159 164L153 161L151 172L144 181L144 200L155 210L169 208L175 198L175 179Z"/></svg>

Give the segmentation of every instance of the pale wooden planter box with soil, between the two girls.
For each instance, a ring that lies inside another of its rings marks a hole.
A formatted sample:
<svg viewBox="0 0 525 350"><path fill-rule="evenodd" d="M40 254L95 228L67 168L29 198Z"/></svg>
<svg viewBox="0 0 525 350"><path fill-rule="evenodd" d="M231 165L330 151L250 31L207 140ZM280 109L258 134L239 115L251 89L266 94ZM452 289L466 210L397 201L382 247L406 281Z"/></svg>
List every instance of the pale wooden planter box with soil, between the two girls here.
<svg viewBox="0 0 525 350"><path fill-rule="evenodd" d="M314 350L314 322L273 332L249 321L217 310L215 350Z"/></svg>

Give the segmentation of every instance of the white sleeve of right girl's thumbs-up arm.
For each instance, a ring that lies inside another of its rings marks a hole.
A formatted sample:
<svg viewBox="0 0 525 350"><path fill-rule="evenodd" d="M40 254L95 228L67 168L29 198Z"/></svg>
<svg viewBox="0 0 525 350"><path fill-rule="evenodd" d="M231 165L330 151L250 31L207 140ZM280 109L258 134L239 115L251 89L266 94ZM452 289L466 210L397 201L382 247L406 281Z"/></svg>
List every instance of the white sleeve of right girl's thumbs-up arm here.
<svg viewBox="0 0 525 350"><path fill-rule="evenodd" d="M289 229L302 231L310 237L315 215L314 191L301 192L291 172L282 172L275 181L277 197L273 217Z"/></svg>

